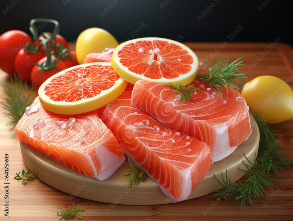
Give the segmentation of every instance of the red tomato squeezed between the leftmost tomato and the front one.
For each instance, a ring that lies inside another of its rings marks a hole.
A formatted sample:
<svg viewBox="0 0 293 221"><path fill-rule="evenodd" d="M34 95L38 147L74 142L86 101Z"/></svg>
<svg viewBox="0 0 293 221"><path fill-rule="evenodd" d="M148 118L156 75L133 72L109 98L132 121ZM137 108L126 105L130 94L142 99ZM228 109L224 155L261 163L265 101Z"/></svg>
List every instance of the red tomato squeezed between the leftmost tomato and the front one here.
<svg viewBox="0 0 293 221"><path fill-rule="evenodd" d="M14 60L16 73L22 80L30 81L30 73L32 72L33 66L44 56L42 52L29 54L27 50L22 48Z"/></svg>

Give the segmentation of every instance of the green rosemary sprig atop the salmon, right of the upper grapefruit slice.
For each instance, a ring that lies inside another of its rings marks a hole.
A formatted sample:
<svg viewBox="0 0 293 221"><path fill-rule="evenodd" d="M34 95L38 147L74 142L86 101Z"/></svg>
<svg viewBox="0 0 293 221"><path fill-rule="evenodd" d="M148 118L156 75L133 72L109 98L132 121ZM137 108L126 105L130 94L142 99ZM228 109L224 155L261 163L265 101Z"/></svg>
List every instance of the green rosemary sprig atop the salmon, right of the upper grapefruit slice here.
<svg viewBox="0 0 293 221"><path fill-rule="evenodd" d="M206 82L207 84L215 87L219 94L220 97L222 98L221 95L221 87L234 87L238 90L240 90L240 86L242 85L239 82L236 82L232 79L235 78L246 78L244 75L241 74L240 72L236 72L238 69L236 68L238 65L243 65L241 64L243 61L239 61L241 58L233 61L231 64L228 63L229 57L227 58L227 61L223 61L223 57L220 61L218 59L218 63L211 68L209 71L207 69L202 72L202 68L200 69L199 74L197 74L197 78L200 80ZM239 62L238 62L239 61Z"/></svg>

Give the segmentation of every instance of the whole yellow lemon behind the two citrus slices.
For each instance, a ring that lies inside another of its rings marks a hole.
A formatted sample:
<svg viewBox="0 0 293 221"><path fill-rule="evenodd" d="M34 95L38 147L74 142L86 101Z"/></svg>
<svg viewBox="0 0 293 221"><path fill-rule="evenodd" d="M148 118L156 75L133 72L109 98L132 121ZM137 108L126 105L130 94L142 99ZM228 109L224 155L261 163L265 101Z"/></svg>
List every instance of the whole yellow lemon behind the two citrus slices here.
<svg viewBox="0 0 293 221"><path fill-rule="evenodd" d="M89 53L101 53L105 48L116 48L118 41L108 31L102 28L88 28L76 39L76 58L79 64Z"/></svg>

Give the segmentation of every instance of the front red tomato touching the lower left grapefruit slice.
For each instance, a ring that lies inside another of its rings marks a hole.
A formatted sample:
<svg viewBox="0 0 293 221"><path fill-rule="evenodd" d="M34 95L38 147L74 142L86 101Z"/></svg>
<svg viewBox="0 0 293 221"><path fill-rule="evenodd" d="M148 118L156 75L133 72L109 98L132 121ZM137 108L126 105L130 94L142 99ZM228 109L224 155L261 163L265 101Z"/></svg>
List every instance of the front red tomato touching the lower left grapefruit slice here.
<svg viewBox="0 0 293 221"><path fill-rule="evenodd" d="M52 55L52 60L57 60L58 58L55 55ZM47 57L42 58L38 61L38 63L43 63L47 60ZM33 70L30 74L30 80L32 82L32 85L35 87L35 90L38 91L39 87L42 83L44 83L45 80L47 80L52 75L58 73L59 71L62 71L67 68L66 64L63 61L58 61L56 63L56 68L59 70L49 69L49 70L43 70L40 73L38 71L40 70L40 66L34 65Z"/></svg>

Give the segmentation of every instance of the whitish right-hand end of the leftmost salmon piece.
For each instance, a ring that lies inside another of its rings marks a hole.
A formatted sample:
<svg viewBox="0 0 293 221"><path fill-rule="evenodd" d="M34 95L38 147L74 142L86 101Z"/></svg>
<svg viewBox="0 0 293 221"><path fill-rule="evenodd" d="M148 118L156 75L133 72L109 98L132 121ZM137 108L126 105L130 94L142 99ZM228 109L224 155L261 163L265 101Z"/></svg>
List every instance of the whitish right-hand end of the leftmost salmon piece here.
<svg viewBox="0 0 293 221"><path fill-rule="evenodd" d="M110 177L125 161L125 156L119 157L117 154L112 153L105 147L103 144L98 144L96 146L96 155L98 160L100 161L101 170L100 173L97 174L95 172L95 177L97 180L105 180ZM88 156L88 160L90 161L93 168L95 168L93 161L90 156Z"/></svg>

